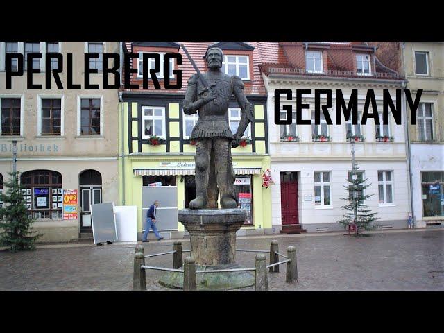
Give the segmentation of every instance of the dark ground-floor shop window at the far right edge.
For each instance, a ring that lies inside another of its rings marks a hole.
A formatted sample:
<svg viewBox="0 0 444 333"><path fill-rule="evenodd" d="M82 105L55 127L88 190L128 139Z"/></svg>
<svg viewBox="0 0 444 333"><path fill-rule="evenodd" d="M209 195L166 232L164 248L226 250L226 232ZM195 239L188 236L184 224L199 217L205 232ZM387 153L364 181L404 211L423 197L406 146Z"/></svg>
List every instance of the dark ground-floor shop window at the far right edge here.
<svg viewBox="0 0 444 333"><path fill-rule="evenodd" d="M444 216L444 171L421 172L422 214Z"/></svg>

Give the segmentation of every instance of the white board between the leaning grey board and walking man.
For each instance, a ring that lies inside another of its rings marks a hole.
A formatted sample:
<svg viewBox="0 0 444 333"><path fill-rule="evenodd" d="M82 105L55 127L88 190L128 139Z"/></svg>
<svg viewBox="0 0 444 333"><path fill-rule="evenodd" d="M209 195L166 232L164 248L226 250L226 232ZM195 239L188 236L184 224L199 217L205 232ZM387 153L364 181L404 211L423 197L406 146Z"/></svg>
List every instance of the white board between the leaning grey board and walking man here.
<svg viewBox="0 0 444 333"><path fill-rule="evenodd" d="M137 242L137 206L115 206L118 241Z"/></svg>

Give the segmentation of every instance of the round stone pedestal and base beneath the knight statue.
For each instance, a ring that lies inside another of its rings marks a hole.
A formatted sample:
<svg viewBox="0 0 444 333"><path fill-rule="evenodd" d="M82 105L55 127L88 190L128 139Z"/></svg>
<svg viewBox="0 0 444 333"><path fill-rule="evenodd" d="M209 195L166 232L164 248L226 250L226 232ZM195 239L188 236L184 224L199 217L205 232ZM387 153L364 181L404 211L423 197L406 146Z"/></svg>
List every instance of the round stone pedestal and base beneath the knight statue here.
<svg viewBox="0 0 444 333"><path fill-rule="evenodd" d="M189 232L191 256L196 261L198 290L228 290L250 287L250 272L211 273L214 269L240 268L236 262L236 232L246 221L247 210L179 210L178 221ZM252 266L254 263L252 262ZM165 287L183 287L182 273L169 273L159 280Z"/></svg>

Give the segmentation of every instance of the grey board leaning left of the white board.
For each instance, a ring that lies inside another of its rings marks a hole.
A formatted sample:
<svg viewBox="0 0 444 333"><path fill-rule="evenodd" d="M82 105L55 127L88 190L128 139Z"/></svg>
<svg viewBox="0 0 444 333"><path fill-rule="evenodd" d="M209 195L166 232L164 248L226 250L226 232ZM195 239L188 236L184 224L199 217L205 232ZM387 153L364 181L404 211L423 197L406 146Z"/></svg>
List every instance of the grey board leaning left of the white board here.
<svg viewBox="0 0 444 333"><path fill-rule="evenodd" d="M94 244L105 241L117 241L114 203L96 203L91 205L91 222Z"/></svg>

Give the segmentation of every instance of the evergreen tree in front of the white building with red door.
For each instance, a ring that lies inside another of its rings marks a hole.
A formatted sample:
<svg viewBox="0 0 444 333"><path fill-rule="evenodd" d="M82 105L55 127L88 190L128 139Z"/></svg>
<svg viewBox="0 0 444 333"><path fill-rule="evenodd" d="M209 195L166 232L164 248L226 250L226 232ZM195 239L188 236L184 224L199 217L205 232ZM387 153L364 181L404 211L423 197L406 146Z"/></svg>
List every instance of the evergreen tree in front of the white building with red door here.
<svg viewBox="0 0 444 333"><path fill-rule="evenodd" d="M359 167L356 167L356 170ZM355 173L357 177L353 179L353 172L350 173L348 178L348 186L344 186L344 188L348 191L348 198L341 198L347 202L347 205L341 206L343 210L346 210L345 214L343 214L343 219L338 221L345 227L355 222L355 209L357 212L357 221L356 221L356 231L355 234L358 234L358 228L363 228L364 230L375 230L377 228L377 223L375 221L378 219L376 217L377 213L373 213L368 209L367 205L364 205L364 201L368 198L372 197L373 194L365 194L364 190L368 188L371 184L366 184L368 179L363 178L363 173ZM353 192L355 191L355 195Z"/></svg>

